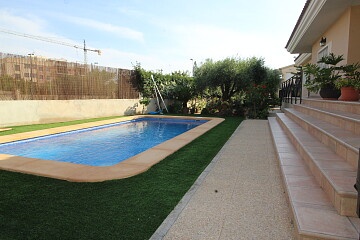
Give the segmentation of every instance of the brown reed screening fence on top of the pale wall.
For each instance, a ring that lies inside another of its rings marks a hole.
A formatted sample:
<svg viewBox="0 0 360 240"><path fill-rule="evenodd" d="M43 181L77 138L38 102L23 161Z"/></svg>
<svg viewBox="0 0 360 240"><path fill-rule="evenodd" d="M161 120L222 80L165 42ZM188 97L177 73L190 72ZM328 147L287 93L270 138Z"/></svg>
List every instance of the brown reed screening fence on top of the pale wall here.
<svg viewBox="0 0 360 240"><path fill-rule="evenodd" d="M0 100L137 99L133 70L0 52Z"/></svg>

